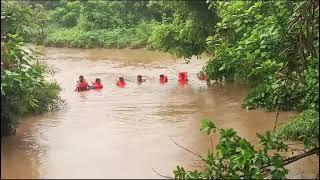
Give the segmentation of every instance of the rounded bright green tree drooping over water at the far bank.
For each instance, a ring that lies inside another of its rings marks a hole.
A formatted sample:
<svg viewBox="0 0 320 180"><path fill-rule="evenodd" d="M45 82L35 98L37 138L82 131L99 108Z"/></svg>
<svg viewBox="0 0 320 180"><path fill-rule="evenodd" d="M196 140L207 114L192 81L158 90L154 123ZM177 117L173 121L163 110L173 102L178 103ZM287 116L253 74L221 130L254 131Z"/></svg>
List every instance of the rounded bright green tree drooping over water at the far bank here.
<svg viewBox="0 0 320 180"><path fill-rule="evenodd" d="M207 51L206 38L213 33L217 20L206 1L178 1L151 4L159 6L163 14L151 32L152 47L170 52L177 57L190 58Z"/></svg>

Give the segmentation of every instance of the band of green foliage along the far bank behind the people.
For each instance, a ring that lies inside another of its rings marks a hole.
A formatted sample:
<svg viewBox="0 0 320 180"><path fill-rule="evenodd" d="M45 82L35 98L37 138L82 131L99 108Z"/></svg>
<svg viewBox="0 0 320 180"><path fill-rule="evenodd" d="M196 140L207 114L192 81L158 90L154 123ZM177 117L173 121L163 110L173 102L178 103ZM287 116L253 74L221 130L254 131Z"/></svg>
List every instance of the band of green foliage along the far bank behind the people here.
<svg viewBox="0 0 320 180"><path fill-rule="evenodd" d="M205 0L26 3L33 9L47 8L41 11L46 13L42 19L48 24L44 29L47 46L147 47L184 58L206 52L206 38L217 17Z"/></svg>

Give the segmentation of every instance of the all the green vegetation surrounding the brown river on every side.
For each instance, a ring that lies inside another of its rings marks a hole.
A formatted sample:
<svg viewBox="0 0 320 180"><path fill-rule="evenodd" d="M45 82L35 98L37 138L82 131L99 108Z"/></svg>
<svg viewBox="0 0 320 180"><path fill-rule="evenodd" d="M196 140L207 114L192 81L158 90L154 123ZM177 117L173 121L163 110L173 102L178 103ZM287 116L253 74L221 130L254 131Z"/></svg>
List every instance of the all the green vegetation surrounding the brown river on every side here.
<svg viewBox="0 0 320 180"><path fill-rule="evenodd" d="M256 148L233 129L205 119L201 130L219 133L215 154L200 156L201 171L178 166L175 178L285 178L285 165L319 152L319 2L311 1L5 1L1 44L1 128L13 116L47 110L59 86L22 42L76 48L158 49L179 58L207 54L208 81L252 87L246 109L301 114L257 135ZM22 37L23 39L19 38ZM32 62L31 62L32 61ZM46 95L44 95L45 93ZM285 157L287 140L306 152ZM259 149L259 150L257 150Z"/></svg>

